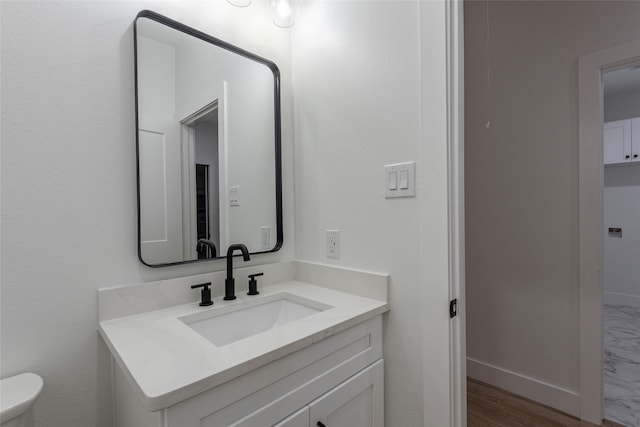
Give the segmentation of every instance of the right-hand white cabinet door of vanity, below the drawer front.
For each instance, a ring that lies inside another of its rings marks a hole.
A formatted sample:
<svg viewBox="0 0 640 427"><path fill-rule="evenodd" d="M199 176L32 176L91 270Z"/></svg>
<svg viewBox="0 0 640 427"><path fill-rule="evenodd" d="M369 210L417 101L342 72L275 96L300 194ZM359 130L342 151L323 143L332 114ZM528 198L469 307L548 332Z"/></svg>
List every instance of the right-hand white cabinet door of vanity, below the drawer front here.
<svg viewBox="0 0 640 427"><path fill-rule="evenodd" d="M383 427L383 361L379 360L309 405L311 427Z"/></svg>

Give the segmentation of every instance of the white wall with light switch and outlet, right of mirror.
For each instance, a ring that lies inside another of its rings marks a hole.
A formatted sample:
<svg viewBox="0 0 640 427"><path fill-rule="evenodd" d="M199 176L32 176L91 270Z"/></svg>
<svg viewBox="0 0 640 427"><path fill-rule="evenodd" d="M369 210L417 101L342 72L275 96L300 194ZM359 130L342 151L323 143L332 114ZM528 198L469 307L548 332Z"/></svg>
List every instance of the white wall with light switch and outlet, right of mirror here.
<svg viewBox="0 0 640 427"><path fill-rule="evenodd" d="M449 425L444 27L444 2L308 1L293 33L296 257L390 274L387 426ZM411 160L417 197L385 199Z"/></svg>

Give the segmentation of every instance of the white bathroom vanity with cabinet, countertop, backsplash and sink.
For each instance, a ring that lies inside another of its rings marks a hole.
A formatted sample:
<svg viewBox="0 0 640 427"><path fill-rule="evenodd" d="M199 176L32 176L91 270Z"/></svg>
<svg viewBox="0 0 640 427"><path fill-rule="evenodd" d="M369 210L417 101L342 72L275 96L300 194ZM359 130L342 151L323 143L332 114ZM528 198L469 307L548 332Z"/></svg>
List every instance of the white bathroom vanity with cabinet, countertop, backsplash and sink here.
<svg viewBox="0 0 640 427"><path fill-rule="evenodd" d="M302 261L259 268L259 295L210 307L188 284L220 283L219 272L99 291L118 427L384 425L388 277Z"/></svg>

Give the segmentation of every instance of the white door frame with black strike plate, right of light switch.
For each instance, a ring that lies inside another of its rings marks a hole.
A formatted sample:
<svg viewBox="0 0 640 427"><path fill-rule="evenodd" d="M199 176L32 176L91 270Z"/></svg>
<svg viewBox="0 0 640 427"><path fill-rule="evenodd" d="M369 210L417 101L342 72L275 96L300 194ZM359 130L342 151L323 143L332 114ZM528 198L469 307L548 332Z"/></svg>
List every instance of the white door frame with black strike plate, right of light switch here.
<svg viewBox="0 0 640 427"><path fill-rule="evenodd" d="M419 2L422 418L438 427L466 426L463 7Z"/></svg>

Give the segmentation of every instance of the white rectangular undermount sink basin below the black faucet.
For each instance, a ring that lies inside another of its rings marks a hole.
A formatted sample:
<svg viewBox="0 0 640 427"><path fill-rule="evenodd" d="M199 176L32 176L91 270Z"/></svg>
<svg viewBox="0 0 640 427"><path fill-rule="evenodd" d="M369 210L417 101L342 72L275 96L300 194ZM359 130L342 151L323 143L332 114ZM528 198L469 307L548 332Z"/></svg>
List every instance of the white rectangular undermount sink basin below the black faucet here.
<svg viewBox="0 0 640 427"><path fill-rule="evenodd" d="M279 295L258 304L212 309L180 318L218 347L303 319L330 308L305 298Z"/></svg>

